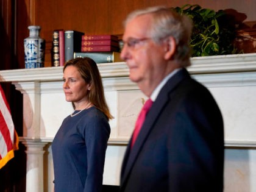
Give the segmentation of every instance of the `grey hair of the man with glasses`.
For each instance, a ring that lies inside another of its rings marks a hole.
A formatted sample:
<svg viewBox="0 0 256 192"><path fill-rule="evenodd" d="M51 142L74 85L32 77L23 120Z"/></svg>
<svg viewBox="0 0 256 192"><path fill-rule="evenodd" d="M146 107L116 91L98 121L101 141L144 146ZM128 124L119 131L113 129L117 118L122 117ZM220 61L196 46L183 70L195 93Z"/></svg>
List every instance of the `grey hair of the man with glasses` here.
<svg viewBox="0 0 256 192"><path fill-rule="evenodd" d="M180 62L183 67L190 66L190 39L193 22L186 15L179 13L164 6L148 7L146 9L135 10L130 13L124 25L141 15L152 15L153 23L149 34L156 43L160 43L167 37L173 37L176 41L176 53L174 59Z"/></svg>

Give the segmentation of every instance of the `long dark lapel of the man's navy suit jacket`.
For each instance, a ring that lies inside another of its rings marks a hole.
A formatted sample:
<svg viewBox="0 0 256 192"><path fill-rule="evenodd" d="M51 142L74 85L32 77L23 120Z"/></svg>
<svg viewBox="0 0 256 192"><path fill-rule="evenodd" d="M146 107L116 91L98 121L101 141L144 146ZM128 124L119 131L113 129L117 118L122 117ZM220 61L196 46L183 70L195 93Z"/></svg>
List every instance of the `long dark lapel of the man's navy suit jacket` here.
<svg viewBox="0 0 256 192"><path fill-rule="evenodd" d="M129 175L129 172L131 171L132 166L135 163L135 160L137 159L137 156L140 153L144 142L148 138L148 135L151 132L152 127L154 126L154 123L158 118L158 115L160 115L162 108L165 107L166 103L169 101L169 99L171 99L169 98L169 93L176 87L177 84L179 84L179 82L185 76L189 76L188 72L186 69L182 69L173 77L171 77L168 82L166 82L165 86L162 88L162 90L158 94L157 99L149 110L148 115L146 116L143 126L141 127L141 131L132 149L130 149L129 142L129 145L127 146L128 149L126 150L126 154L124 156L123 169L121 172L121 185L123 185L127 176Z"/></svg>

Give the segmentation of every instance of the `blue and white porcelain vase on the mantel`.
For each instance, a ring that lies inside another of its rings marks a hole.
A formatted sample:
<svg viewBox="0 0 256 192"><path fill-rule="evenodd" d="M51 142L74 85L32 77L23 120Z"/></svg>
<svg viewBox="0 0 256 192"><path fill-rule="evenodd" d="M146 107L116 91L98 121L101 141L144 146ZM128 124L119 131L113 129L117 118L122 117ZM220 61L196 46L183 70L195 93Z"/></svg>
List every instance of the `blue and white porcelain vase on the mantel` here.
<svg viewBox="0 0 256 192"><path fill-rule="evenodd" d="M29 26L29 37L24 39L25 68L44 66L45 41L40 38L40 26Z"/></svg>

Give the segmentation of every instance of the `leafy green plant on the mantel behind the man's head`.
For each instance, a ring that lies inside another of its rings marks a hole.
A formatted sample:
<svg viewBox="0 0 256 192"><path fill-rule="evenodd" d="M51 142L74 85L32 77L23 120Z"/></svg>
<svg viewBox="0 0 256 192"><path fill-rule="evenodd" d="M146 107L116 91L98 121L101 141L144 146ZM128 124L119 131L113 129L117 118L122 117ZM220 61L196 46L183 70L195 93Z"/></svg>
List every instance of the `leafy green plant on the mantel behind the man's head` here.
<svg viewBox="0 0 256 192"><path fill-rule="evenodd" d="M192 57L238 54L235 48L235 20L224 10L202 9L200 5L183 5L171 8L193 20L190 45Z"/></svg>

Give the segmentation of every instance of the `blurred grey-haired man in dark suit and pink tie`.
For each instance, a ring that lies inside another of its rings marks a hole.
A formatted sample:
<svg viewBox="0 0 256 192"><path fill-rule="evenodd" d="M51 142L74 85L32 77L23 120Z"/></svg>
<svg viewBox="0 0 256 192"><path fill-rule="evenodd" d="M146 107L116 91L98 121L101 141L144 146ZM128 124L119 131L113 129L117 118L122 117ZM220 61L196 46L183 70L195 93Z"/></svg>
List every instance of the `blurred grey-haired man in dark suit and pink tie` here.
<svg viewBox="0 0 256 192"><path fill-rule="evenodd" d="M152 106L127 146L121 191L223 190L222 115L212 94L186 69L191 29L189 18L165 7L127 17L121 58Z"/></svg>

